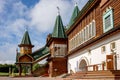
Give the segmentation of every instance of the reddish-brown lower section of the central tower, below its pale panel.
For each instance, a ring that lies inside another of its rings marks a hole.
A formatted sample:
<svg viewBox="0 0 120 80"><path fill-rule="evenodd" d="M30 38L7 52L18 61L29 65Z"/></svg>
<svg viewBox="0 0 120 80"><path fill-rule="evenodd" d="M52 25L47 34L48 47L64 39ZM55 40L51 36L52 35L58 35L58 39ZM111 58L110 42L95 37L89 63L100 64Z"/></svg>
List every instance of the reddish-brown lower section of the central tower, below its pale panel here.
<svg viewBox="0 0 120 80"><path fill-rule="evenodd" d="M55 77L67 73L67 59L53 58L49 63L49 76Z"/></svg>

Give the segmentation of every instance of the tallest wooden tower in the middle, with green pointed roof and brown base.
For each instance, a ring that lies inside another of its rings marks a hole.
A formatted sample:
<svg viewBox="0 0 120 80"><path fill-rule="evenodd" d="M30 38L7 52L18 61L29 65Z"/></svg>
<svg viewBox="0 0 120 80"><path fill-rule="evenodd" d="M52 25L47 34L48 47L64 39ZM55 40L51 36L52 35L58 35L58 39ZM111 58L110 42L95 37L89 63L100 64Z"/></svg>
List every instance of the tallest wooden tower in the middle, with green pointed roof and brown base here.
<svg viewBox="0 0 120 80"><path fill-rule="evenodd" d="M67 73L67 36L64 31L61 16L58 12L54 30L47 37L47 46L50 49L51 56L49 62L49 76L55 77Z"/></svg>

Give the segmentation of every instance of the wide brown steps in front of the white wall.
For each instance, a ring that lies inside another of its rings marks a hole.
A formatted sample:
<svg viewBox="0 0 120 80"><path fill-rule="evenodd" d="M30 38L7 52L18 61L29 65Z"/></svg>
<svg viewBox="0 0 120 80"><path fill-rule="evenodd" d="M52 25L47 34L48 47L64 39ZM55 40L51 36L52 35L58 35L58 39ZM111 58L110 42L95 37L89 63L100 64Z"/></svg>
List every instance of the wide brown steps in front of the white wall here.
<svg viewBox="0 0 120 80"><path fill-rule="evenodd" d="M120 80L120 70L77 72L66 78L68 80Z"/></svg>

